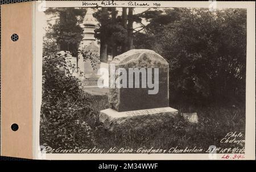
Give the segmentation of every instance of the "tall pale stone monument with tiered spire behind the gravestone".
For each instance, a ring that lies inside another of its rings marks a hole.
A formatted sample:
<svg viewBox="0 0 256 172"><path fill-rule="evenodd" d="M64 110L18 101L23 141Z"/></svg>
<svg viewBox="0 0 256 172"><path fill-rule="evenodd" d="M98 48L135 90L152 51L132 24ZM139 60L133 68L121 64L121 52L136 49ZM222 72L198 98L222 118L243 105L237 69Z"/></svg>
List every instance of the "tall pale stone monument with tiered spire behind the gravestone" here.
<svg viewBox="0 0 256 172"><path fill-rule="evenodd" d="M92 61L94 61L94 63L100 63L100 46L96 43L96 39L94 37L94 29L96 24L97 20L93 17L93 10L88 8L82 22L82 25L84 26L84 32L82 41L79 45L79 49L92 52L93 54L96 54L98 58L94 56L93 60L84 60L83 57L79 55L77 64L79 67L79 72L82 72L83 74L83 76L80 77L82 81L85 79L93 80L97 78L96 74L97 69L99 68L99 64L96 64L94 68L92 67Z"/></svg>

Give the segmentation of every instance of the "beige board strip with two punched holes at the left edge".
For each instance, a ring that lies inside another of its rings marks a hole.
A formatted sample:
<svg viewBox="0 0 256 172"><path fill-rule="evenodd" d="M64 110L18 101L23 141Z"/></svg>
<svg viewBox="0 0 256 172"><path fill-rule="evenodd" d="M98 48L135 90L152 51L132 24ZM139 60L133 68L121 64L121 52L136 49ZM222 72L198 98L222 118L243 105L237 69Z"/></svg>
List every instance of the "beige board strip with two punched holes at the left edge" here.
<svg viewBox="0 0 256 172"><path fill-rule="evenodd" d="M1 5L1 156L33 158L32 9L31 2Z"/></svg>

